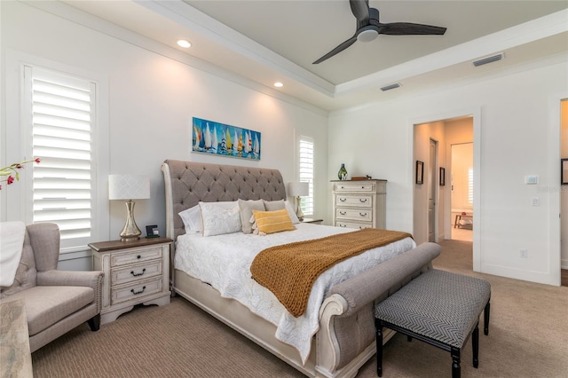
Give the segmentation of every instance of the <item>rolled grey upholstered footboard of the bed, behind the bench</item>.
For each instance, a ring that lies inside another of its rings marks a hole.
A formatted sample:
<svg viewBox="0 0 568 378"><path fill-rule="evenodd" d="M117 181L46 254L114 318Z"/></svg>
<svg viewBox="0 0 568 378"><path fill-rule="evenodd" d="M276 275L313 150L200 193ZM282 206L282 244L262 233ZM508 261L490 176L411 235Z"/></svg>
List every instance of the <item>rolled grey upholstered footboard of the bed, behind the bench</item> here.
<svg viewBox="0 0 568 378"><path fill-rule="evenodd" d="M440 249L438 244L424 243L331 288L319 311L318 376L357 374L375 354L374 303L431 269L431 261ZM391 335L386 335L384 341Z"/></svg>

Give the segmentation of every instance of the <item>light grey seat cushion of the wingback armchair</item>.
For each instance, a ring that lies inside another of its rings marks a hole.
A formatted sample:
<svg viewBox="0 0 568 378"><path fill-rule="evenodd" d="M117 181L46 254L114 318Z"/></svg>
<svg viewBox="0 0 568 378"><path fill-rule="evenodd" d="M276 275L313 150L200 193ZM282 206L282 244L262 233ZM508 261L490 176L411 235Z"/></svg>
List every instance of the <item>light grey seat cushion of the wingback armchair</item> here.
<svg viewBox="0 0 568 378"><path fill-rule="evenodd" d="M36 286L5 298L22 299L26 304L29 335L36 335L59 320L82 309L95 300L91 287Z"/></svg>

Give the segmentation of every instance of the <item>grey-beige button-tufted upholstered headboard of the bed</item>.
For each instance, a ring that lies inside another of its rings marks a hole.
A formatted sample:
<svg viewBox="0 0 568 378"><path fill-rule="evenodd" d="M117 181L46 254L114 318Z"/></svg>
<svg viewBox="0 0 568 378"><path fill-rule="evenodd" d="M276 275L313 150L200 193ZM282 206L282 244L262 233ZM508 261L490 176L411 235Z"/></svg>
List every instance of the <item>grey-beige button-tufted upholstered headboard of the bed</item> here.
<svg viewBox="0 0 568 378"><path fill-rule="evenodd" d="M286 186L278 169L167 160L162 164L162 172L166 235L172 240L185 233L177 214L199 201L286 200Z"/></svg>

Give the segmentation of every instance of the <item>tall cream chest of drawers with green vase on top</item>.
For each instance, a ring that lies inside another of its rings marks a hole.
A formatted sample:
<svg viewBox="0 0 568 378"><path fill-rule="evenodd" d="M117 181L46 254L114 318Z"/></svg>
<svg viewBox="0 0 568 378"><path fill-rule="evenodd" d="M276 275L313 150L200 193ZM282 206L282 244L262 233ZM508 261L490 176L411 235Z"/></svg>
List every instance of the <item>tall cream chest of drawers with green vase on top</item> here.
<svg viewBox="0 0 568 378"><path fill-rule="evenodd" d="M387 180L333 180L334 225L386 227Z"/></svg>

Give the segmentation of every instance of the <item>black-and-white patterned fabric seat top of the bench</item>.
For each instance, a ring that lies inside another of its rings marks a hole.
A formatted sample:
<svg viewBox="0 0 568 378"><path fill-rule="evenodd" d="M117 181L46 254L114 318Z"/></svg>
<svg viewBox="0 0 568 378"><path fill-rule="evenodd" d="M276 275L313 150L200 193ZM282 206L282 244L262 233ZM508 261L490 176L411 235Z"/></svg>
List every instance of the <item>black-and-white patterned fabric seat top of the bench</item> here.
<svg viewBox="0 0 568 378"><path fill-rule="evenodd" d="M432 269L375 306L375 318L461 348L491 295L488 281Z"/></svg>

